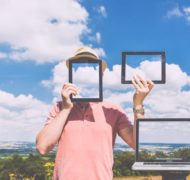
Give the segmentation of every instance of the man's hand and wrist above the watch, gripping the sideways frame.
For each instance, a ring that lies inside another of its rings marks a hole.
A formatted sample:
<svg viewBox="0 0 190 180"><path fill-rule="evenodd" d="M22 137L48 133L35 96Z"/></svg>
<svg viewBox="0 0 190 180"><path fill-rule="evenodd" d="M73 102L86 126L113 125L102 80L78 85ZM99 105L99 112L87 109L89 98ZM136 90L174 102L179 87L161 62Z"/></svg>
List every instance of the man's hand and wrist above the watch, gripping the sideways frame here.
<svg viewBox="0 0 190 180"><path fill-rule="evenodd" d="M142 106L145 97L154 87L154 83L151 80L144 80L138 75L133 77L132 82L136 89L136 92L133 96L134 107Z"/></svg>

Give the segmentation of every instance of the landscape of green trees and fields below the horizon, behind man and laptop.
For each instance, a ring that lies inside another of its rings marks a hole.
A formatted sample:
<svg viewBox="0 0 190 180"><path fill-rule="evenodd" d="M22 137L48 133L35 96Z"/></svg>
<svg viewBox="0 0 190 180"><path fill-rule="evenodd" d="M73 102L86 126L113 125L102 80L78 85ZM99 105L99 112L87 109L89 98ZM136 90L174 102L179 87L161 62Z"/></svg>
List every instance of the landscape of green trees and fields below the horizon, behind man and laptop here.
<svg viewBox="0 0 190 180"><path fill-rule="evenodd" d="M147 145L147 144L146 144ZM154 146L158 146L154 144ZM0 179L30 179L49 180L53 175L54 159L57 146L48 154L40 155L35 150L33 142L0 142ZM170 147L168 147L168 150ZM166 149L167 150L167 149ZM162 150L141 151L140 159L152 160L157 157L168 157ZM135 161L135 153L127 145L115 144L114 147L114 179L128 180L159 180L161 172L133 171L131 169ZM182 157L190 159L189 149L178 148L170 154L170 157ZM189 174L187 172L187 174ZM120 178L119 178L120 177ZM125 178L124 178L125 177Z"/></svg>

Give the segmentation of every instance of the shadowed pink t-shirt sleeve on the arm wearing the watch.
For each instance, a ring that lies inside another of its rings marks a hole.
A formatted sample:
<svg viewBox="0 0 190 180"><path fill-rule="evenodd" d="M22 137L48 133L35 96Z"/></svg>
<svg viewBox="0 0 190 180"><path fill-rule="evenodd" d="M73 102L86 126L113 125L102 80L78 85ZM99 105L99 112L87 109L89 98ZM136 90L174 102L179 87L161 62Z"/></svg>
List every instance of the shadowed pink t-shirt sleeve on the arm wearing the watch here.
<svg viewBox="0 0 190 180"><path fill-rule="evenodd" d="M119 132L119 130L121 129L129 128L129 127L131 127L131 122L129 121L129 118L125 114L125 111L119 108L118 120L117 120L117 132Z"/></svg>

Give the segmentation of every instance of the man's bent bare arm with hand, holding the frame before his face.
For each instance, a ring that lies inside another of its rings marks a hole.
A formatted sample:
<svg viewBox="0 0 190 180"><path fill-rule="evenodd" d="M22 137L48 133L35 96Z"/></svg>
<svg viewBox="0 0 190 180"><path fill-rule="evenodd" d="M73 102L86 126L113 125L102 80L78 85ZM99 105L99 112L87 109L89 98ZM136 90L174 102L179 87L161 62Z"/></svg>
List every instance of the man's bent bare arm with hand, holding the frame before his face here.
<svg viewBox="0 0 190 180"><path fill-rule="evenodd" d="M64 84L61 91L63 103L60 111L55 114L56 111L54 110L55 116L51 117L51 123L45 125L36 136L36 149L40 154L48 153L59 141L66 120L73 108L73 103L70 100L71 94L76 95L77 88L71 83Z"/></svg>

